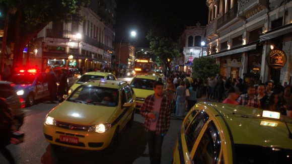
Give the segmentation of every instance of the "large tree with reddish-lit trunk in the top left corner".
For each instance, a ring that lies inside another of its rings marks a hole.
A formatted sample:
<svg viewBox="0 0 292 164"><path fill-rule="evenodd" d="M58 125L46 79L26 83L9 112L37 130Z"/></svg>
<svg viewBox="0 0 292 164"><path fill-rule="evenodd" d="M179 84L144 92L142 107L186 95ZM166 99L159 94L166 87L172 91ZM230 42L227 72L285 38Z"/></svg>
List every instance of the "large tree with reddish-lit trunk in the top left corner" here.
<svg viewBox="0 0 292 164"><path fill-rule="evenodd" d="M50 22L82 22L81 7L87 7L90 0L0 0L7 9L16 9L9 16L7 45L14 43L13 65L22 66L23 49Z"/></svg>

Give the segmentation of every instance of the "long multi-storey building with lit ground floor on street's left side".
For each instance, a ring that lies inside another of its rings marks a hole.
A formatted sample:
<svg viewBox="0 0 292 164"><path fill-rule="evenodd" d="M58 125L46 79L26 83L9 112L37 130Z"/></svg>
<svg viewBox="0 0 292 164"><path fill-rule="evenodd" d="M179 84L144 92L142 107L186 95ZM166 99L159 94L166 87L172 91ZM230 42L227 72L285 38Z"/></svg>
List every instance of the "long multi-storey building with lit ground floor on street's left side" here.
<svg viewBox="0 0 292 164"><path fill-rule="evenodd" d="M46 66L112 67L115 8L114 0L91 1L80 11L85 17L82 23L50 22L32 41L37 53L30 56L31 65L41 63L42 70Z"/></svg>

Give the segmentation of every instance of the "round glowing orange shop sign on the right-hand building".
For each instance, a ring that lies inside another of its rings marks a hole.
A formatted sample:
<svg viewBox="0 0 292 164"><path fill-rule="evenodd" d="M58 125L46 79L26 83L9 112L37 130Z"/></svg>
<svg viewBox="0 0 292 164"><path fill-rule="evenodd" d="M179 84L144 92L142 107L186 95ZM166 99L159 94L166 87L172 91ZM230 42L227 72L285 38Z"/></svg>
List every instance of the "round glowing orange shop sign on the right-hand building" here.
<svg viewBox="0 0 292 164"><path fill-rule="evenodd" d="M266 62L269 67L274 69L282 68L287 61L287 56L284 51L279 49L271 50L266 56Z"/></svg>

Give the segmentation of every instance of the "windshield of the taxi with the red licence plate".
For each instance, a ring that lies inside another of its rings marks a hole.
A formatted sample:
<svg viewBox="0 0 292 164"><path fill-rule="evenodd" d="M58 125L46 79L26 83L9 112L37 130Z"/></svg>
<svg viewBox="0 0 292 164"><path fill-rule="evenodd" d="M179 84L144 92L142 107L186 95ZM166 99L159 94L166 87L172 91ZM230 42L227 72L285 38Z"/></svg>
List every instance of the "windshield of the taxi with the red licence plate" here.
<svg viewBox="0 0 292 164"><path fill-rule="evenodd" d="M80 86L67 99L67 101L115 107L118 105L119 94L117 89Z"/></svg>

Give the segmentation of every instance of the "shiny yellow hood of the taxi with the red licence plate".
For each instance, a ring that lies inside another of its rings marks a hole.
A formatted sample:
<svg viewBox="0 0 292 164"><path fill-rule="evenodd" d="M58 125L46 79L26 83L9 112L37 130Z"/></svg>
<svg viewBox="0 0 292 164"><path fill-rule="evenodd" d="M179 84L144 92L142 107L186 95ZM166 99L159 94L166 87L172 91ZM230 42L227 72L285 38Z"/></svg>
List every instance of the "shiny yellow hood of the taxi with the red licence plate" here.
<svg viewBox="0 0 292 164"><path fill-rule="evenodd" d="M48 115L56 121L94 125L108 122L116 108L64 101L53 108Z"/></svg>

